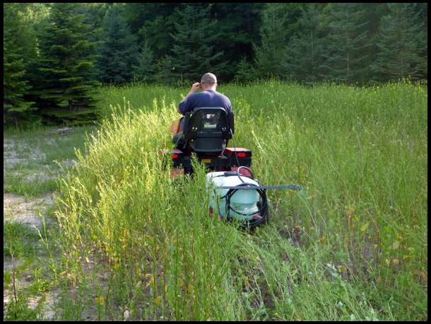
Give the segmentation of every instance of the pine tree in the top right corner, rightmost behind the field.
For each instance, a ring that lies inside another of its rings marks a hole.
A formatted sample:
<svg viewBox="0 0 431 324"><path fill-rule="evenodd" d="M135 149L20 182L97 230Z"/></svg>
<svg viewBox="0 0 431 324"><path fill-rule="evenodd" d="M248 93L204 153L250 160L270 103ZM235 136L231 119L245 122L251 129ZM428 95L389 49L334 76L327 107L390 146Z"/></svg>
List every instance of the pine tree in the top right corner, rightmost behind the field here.
<svg viewBox="0 0 431 324"><path fill-rule="evenodd" d="M426 75L427 38L415 4L387 4L389 14L382 18L377 38L376 62L372 66L375 78L419 79Z"/></svg>

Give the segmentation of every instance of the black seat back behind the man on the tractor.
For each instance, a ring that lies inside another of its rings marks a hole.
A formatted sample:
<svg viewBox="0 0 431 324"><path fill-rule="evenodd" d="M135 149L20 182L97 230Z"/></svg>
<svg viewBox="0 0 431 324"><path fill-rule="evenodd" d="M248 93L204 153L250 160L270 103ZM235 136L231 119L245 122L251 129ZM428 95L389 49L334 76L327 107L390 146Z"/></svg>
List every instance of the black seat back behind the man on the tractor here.
<svg viewBox="0 0 431 324"><path fill-rule="evenodd" d="M186 148L198 156L219 156L234 129L233 112L224 108L195 108L184 118L184 139Z"/></svg>

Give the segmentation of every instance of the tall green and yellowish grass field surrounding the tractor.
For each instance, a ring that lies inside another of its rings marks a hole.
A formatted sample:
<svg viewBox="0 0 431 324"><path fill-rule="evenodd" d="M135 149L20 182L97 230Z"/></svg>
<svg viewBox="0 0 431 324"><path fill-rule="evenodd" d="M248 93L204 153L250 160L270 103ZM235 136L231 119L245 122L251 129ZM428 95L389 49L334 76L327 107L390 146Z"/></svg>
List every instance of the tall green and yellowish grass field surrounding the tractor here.
<svg viewBox="0 0 431 324"><path fill-rule="evenodd" d="M104 88L114 112L60 185L68 303L100 319L426 319L426 86L218 90L259 181L304 192L268 192L253 235L212 219L205 170L173 181L158 155L188 90Z"/></svg>

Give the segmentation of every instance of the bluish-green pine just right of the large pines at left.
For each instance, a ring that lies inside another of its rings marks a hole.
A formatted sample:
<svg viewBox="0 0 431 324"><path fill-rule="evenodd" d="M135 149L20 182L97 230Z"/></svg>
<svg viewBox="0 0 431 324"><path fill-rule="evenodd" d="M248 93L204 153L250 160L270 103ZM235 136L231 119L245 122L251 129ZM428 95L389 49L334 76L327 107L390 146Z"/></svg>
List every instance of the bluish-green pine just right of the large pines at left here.
<svg viewBox="0 0 431 324"><path fill-rule="evenodd" d="M133 76L138 47L136 37L122 17L119 4L108 9L102 22L102 45L98 49L98 70L104 83L125 83Z"/></svg>

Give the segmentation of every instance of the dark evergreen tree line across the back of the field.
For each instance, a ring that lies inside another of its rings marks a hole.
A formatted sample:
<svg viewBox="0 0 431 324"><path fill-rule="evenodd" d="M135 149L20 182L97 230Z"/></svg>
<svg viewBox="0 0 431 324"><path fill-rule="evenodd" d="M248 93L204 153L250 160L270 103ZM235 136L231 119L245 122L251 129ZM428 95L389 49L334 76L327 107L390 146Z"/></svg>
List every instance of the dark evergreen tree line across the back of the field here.
<svg viewBox="0 0 431 324"><path fill-rule="evenodd" d="M84 124L101 84L427 79L426 3L4 6L4 125Z"/></svg>

